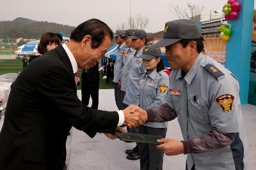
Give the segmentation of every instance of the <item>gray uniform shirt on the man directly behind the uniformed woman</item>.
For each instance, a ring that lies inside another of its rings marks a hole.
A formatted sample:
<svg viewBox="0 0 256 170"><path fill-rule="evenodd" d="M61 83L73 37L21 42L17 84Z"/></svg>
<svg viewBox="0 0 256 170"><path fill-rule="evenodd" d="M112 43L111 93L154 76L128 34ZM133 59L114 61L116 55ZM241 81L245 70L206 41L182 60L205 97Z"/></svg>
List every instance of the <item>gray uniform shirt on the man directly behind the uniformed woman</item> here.
<svg viewBox="0 0 256 170"><path fill-rule="evenodd" d="M131 67L128 74L126 93L124 97L123 103L129 104L137 104L137 96L139 92L140 78L146 70L143 67L142 59L140 55L142 54L143 48L139 52L134 55L131 61Z"/></svg>

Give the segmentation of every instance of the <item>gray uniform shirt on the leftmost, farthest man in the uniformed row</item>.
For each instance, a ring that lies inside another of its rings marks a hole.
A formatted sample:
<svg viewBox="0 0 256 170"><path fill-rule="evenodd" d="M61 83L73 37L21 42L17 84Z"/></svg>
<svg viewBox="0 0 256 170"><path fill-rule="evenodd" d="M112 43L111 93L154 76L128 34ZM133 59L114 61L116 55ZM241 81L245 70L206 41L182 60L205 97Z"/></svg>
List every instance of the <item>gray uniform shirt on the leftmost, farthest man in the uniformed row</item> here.
<svg viewBox="0 0 256 170"><path fill-rule="evenodd" d="M125 49L125 43L122 43L118 48L117 55L116 55L116 62L114 66L114 79L113 82L118 83L122 77L122 68L124 66L123 62L123 53Z"/></svg>

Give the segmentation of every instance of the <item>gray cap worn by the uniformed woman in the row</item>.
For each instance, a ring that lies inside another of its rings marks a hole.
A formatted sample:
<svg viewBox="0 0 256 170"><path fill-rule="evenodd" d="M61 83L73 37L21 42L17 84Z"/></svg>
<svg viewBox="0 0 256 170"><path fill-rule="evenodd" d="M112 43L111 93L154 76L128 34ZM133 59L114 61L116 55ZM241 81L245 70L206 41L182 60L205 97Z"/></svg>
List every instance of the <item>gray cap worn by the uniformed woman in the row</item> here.
<svg viewBox="0 0 256 170"><path fill-rule="evenodd" d="M161 50L156 46L145 46L140 57L144 60L152 60L161 57Z"/></svg>

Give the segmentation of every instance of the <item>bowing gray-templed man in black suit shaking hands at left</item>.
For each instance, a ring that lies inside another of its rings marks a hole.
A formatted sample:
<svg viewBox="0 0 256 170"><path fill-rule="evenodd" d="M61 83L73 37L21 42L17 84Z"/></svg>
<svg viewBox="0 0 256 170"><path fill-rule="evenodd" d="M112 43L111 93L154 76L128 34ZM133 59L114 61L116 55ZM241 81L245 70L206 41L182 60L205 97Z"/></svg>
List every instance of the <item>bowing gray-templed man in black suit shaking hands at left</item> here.
<svg viewBox="0 0 256 170"><path fill-rule="evenodd" d="M12 84L0 133L0 169L63 169L65 143L72 126L91 138L105 132L109 138L125 122L137 126L147 115L100 111L83 106L77 97L77 69L100 62L113 32L97 19L78 25L67 45L33 60ZM75 73L75 74L74 74ZM74 76L75 75L75 76Z"/></svg>

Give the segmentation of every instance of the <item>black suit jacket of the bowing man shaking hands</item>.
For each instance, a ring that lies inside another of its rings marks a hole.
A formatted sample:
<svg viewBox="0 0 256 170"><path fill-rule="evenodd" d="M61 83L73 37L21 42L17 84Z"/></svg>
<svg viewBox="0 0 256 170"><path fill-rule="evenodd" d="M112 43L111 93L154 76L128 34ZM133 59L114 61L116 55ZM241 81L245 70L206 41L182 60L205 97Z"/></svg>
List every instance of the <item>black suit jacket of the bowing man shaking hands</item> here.
<svg viewBox="0 0 256 170"><path fill-rule="evenodd" d="M117 124L116 111L83 107L68 55L58 46L13 82L0 133L0 169L63 169L72 126L93 137L115 132Z"/></svg>

